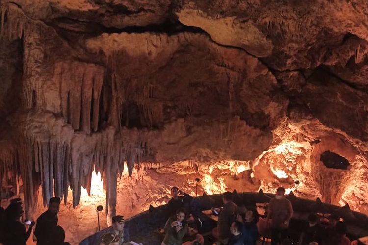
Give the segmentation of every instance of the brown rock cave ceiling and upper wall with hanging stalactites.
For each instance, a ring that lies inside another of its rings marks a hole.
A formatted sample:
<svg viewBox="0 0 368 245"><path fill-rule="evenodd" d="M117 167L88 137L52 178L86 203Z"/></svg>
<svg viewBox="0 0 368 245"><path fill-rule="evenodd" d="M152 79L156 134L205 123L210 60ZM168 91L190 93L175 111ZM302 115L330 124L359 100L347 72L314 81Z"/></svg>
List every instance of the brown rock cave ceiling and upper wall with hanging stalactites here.
<svg viewBox="0 0 368 245"><path fill-rule="evenodd" d="M1 0L0 28L0 173L29 210L40 184L78 205L93 168L113 206L124 162L187 160L287 166L363 205L364 0ZM296 167L272 158L288 142ZM320 173L326 151L351 167Z"/></svg>

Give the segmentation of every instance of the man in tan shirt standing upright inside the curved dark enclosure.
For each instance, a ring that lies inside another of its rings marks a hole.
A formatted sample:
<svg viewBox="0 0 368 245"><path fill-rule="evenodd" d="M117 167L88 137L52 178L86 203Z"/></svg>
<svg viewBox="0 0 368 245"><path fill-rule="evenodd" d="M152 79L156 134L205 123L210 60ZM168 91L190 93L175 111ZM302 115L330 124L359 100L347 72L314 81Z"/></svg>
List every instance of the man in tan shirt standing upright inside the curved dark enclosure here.
<svg viewBox="0 0 368 245"><path fill-rule="evenodd" d="M285 188L276 190L275 198L272 198L268 206L267 221L271 219L272 245L277 245L287 238L289 220L293 215L291 202L285 198Z"/></svg>

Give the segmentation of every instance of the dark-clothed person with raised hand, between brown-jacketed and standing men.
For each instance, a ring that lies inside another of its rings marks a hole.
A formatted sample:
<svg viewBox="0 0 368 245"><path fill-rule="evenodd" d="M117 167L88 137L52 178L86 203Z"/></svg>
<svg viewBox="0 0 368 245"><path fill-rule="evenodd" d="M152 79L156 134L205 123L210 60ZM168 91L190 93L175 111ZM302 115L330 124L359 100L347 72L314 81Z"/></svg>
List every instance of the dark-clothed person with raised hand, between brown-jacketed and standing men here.
<svg viewBox="0 0 368 245"><path fill-rule="evenodd" d="M243 224L242 237L244 245L255 245L258 238L257 222L258 213L254 208L249 208L245 212L245 217L237 215L237 221Z"/></svg>

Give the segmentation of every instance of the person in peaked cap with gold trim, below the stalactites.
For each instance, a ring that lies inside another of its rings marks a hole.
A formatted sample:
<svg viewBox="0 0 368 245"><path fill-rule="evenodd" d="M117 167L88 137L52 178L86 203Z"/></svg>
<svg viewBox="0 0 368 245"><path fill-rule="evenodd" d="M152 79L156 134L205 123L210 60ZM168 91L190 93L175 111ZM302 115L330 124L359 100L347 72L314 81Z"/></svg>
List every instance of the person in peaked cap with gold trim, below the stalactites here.
<svg viewBox="0 0 368 245"><path fill-rule="evenodd" d="M129 244L129 232L125 226L124 216L116 215L112 217L112 226L105 229L100 235L97 245L125 245ZM110 240L111 238L111 240Z"/></svg>

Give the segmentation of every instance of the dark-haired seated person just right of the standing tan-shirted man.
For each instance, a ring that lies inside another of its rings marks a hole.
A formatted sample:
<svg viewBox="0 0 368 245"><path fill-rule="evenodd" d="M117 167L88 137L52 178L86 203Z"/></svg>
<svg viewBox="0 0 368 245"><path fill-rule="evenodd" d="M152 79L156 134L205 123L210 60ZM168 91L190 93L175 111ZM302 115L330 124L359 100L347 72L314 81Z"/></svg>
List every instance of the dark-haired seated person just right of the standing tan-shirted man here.
<svg viewBox="0 0 368 245"><path fill-rule="evenodd" d="M323 228L318 224L318 217L316 214L311 213L308 215L308 224L304 227L303 232L299 239L299 244L309 245L311 242L322 242Z"/></svg>

